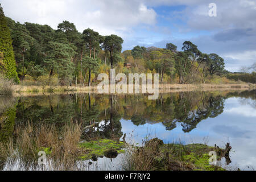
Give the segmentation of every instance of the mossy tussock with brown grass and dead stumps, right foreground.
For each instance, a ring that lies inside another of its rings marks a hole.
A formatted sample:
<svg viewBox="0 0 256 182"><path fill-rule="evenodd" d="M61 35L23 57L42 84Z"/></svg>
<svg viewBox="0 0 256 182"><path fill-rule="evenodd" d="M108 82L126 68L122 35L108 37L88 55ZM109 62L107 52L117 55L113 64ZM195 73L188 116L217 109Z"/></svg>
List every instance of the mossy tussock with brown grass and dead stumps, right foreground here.
<svg viewBox="0 0 256 182"><path fill-rule="evenodd" d="M229 150L206 144L164 144L158 138L146 139L140 147L130 146L122 159L122 169L127 171L223 171L220 160ZM209 164L210 151L216 151L218 163Z"/></svg>

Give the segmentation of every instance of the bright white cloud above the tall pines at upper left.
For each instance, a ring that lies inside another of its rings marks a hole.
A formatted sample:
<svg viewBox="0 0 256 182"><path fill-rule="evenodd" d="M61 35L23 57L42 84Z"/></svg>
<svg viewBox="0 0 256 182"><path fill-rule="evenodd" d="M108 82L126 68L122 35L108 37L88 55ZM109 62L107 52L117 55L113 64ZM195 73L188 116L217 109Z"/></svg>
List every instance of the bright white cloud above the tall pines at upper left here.
<svg viewBox="0 0 256 182"><path fill-rule="evenodd" d="M138 1L2 0L5 15L20 23L49 24L57 28L63 20L75 23L79 31L93 28L102 35L125 35L138 24L154 24L156 13Z"/></svg>

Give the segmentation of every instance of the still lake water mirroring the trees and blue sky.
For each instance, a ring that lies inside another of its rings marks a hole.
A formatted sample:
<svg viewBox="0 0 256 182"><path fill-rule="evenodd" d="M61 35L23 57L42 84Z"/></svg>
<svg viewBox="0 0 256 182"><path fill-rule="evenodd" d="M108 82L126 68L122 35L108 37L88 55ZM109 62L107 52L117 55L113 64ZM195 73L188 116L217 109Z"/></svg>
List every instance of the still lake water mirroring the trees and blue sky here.
<svg viewBox="0 0 256 182"><path fill-rule="evenodd" d="M160 94L148 100L143 94L51 94L0 98L0 117L8 115L9 124L0 127L0 138L12 135L14 125L24 122L81 122L93 129L84 136L121 138L141 143L146 137L158 137L164 143L205 143L232 146L227 169L256 169L256 97L255 90L176 92ZM3 127L2 127L3 126ZM122 155L122 154L121 154ZM98 166L118 169L120 156L99 158ZM93 166L93 165L92 165Z"/></svg>

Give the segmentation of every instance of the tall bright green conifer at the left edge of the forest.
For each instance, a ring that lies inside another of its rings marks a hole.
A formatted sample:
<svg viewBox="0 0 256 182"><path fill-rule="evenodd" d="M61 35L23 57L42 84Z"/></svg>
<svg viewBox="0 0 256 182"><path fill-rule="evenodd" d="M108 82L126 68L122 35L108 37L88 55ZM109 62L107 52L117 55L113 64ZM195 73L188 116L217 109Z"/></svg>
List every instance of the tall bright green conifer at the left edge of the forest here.
<svg viewBox="0 0 256 182"><path fill-rule="evenodd" d="M10 29L7 27L7 21L3 8L0 4L0 55L3 55L2 62L4 64L4 70L7 78L13 78L15 82L19 82L18 73L16 72L16 63L14 59L14 52L12 46Z"/></svg>

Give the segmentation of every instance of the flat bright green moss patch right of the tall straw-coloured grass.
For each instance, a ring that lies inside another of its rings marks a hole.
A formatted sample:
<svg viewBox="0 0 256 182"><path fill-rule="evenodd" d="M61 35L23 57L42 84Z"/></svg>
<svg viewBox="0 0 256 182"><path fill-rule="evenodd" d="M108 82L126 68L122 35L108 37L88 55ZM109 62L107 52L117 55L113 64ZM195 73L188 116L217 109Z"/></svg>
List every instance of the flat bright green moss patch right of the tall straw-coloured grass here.
<svg viewBox="0 0 256 182"><path fill-rule="evenodd" d="M125 152L121 150L124 147L123 142L116 142L110 139L100 139L86 141L79 144L80 148L80 159L88 160L91 159L93 155L97 157L104 156L105 152L114 149L117 150L118 154Z"/></svg>

